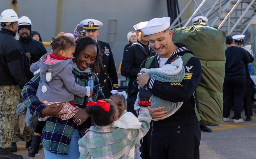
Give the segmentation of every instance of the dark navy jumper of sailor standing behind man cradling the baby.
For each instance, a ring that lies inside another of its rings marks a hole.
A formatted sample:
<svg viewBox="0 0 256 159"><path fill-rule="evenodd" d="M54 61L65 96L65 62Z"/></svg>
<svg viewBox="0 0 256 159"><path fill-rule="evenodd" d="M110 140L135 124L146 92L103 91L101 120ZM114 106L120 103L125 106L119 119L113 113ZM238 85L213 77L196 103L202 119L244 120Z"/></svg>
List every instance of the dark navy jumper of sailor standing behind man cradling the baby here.
<svg viewBox="0 0 256 159"><path fill-rule="evenodd" d="M137 41L139 44L133 44L129 46L126 50L123 52L123 60L121 65L121 74L122 76L127 77L129 80L128 82L128 89L127 94L128 96L133 91L133 82L137 78L137 74L139 72L140 66L142 62L155 55L156 52L154 52L150 45L143 45L140 41ZM127 109L129 110L129 107Z"/></svg>

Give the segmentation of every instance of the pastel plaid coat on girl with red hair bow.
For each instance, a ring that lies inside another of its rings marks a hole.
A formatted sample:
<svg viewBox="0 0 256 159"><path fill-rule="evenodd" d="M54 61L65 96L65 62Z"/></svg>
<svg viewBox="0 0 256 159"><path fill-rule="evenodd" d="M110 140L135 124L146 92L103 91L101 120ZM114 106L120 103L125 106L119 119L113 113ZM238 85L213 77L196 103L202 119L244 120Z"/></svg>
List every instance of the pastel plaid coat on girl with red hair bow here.
<svg viewBox="0 0 256 159"><path fill-rule="evenodd" d="M131 148L149 131L151 116L147 108L140 108L139 129L124 129L107 126L91 126L78 141L80 159L127 158Z"/></svg>

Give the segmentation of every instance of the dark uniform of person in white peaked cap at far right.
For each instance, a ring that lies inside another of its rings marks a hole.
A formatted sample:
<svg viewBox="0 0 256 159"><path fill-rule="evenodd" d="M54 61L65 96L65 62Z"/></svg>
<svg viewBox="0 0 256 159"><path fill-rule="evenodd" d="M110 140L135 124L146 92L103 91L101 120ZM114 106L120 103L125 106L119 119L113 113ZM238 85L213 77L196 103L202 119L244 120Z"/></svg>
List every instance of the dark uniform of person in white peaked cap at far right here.
<svg viewBox="0 0 256 159"><path fill-rule="evenodd" d="M250 57L250 63L253 62L254 58L247 52ZM246 77L246 93L244 97L244 113L245 116L252 116L252 107L251 107L251 78L248 69L248 64L245 63L245 77Z"/></svg>

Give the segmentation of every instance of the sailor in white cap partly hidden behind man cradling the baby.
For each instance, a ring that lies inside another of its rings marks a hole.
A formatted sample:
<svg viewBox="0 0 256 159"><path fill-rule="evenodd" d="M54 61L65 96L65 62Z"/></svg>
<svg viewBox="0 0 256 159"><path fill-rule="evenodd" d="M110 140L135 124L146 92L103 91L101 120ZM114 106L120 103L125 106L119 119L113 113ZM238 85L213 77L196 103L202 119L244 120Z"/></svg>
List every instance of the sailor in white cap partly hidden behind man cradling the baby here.
<svg viewBox="0 0 256 159"><path fill-rule="evenodd" d="M140 69L142 62L155 55L155 52L150 48L149 39L146 35L143 34L141 29L148 24L148 21L140 22L134 25L134 30L138 40L136 43L133 43L131 46L126 48L123 52L123 60L121 65L121 74L125 76L128 83L127 95L131 94L133 91L133 82L137 78L137 73ZM132 112L134 115L138 116L138 112L134 111L133 104L128 100L127 110ZM151 124L150 124L151 125ZM151 130L151 129L150 129ZM143 143L141 145L141 153L143 158L150 158L150 136L151 133L147 133L143 137Z"/></svg>

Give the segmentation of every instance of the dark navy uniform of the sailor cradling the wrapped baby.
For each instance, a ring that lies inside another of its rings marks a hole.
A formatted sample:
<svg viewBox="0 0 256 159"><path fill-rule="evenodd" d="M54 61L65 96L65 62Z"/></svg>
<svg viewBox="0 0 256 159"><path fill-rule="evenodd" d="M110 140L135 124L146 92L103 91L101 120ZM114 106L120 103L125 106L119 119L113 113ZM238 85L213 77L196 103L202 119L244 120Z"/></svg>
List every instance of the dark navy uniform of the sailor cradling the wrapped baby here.
<svg viewBox="0 0 256 159"><path fill-rule="evenodd" d="M165 64L170 64L176 57L182 57L185 53L191 53L181 43L174 43L178 49L175 50ZM145 66L146 60L141 68ZM160 57L156 54L155 59L149 68L159 68ZM197 120L194 110L195 102L198 109L198 102L193 96L199 82L202 79L201 63L196 57L188 60L185 70L185 77L181 83L160 82L150 78L147 86L152 95L170 102L183 102L180 109L172 116L152 123L151 135L151 158L199 158L199 144L201 140L200 123ZM138 93L137 80L133 83L133 92L130 95L130 106L136 100ZM147 136L146 135L146 136ZM187 144L190 143L190 144ZM184 150L186 153L184 153Z"/></svg>

